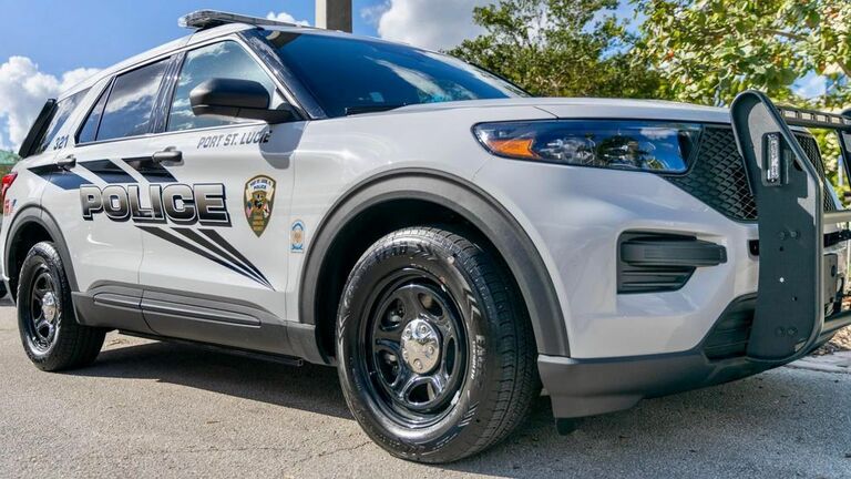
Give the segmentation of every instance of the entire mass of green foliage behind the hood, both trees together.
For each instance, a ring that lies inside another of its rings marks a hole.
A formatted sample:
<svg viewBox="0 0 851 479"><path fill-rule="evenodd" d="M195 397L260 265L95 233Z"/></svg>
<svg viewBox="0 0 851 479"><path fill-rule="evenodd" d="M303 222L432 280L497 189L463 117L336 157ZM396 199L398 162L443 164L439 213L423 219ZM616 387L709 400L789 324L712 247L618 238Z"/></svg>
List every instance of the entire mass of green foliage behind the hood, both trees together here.
<svg viewBox="0 0 851 479"><path fill-rule="evenodd" d="M787 104L851 106L850 0L628 1L636 34L614 17L618 0L500 0L474 11L485 33L450 53L542 96L728 105L759 89ZM794 83L811 73L826 92L800 98ZM835 185L835 135L814 133Z"/></svg>

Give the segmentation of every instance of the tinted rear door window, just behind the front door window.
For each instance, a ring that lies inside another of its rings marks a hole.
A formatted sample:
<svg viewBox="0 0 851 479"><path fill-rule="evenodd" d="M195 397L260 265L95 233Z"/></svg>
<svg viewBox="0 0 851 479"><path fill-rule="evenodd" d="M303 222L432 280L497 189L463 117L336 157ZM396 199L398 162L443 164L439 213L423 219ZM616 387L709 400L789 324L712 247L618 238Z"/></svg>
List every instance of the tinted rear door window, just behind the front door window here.
<svg viewBox="0 0 851 479"><path fill-rule="evenodd" d="M115 79L106 108L103 110L98 140L135 136L150 131L152 111L166 60Z"/></svg>

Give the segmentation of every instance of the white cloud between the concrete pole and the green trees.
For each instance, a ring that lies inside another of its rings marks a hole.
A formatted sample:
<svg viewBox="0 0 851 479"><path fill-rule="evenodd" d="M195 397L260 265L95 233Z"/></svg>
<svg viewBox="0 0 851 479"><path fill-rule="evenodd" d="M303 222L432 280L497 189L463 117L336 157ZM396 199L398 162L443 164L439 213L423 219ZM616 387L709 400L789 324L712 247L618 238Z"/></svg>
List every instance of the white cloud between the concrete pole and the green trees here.
<svg viewBox="0 0 851 479"><path fill-rule="evenodd" d="M361 16L376 21L383 39L443 50L482 33L473 23L473 8L494 1L387 0L383 6L361 10Z"/></svg>

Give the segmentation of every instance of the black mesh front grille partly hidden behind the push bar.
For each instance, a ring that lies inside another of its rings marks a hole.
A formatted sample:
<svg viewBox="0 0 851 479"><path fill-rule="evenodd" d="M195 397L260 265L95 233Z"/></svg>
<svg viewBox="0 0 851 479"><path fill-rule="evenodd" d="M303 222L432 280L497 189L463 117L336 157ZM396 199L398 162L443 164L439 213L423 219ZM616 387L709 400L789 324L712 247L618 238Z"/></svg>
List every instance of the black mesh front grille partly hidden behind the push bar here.
<svg viewBox="0 0 851 479"><path fill-rule="evenodd" d="M796 136L824 179L824 165L816 139L803 133ZM667 176L667 180L731 220L757 220L757 203L748 184L745 161L729 126L706 126L700 135L694 166L685 175ZM826 181L824 211L835 208Z"/></svg>

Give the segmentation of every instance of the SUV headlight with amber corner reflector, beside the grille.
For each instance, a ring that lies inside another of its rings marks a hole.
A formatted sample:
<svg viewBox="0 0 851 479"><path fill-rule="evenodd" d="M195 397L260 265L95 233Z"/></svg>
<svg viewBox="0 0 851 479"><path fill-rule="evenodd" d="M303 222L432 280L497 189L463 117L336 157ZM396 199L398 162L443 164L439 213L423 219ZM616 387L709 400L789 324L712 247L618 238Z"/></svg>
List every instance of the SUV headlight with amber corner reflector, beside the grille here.
<svg viewBox="0 0 851 479"><path fill-rule="evenodd" d="M688 170L701 128L653 121L546 120L481 123L473 131L499 156L681 173Z"/></svg>

